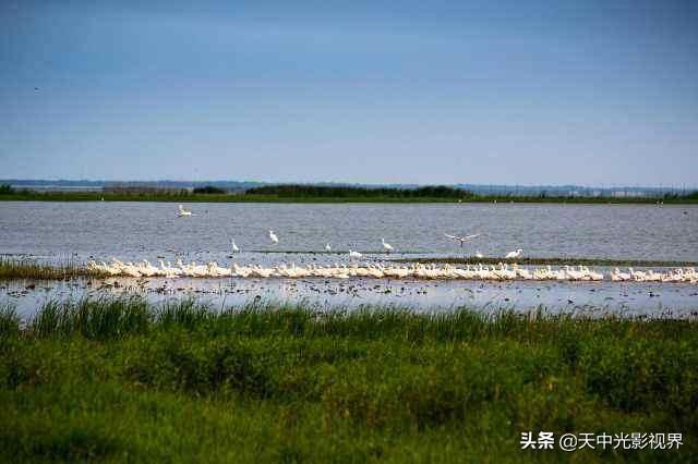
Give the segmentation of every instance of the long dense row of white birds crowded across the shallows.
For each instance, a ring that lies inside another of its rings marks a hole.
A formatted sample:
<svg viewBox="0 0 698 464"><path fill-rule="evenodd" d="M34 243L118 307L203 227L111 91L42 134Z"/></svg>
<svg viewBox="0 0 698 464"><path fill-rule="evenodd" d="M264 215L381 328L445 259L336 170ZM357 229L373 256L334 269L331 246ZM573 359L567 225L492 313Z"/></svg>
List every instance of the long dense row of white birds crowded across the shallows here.
<svg viewBox="0 0 698 464"><path fill-rule="evenodd" d="M349 279L352 277L375 279L466 279L466 280L557 280L557 281L600 281L605 276L589 269L586 266L564 266L553 269L551 266L528 269L516 264L512 266L500 264L497 266L468 265L457 267L452 265L383 265L383 264L335 264L327 266L290 266L278 265L272 267L240 266L232 262L230 267L219 266L215 261L184 264L178 259L174 265L159 260L159 266L153 266L147 259L140 262L122 262L112 258L111 262L89 261L87 268L92 271L109 276L123 276L135 278L165 277L165 278L325 278ZM609 278L614 281L636 282L688 282L698 283L698 272L695 268L678 268L658 272L654 270L636 271L629 268L627 272L618 268L610 272Z"/></svg>

